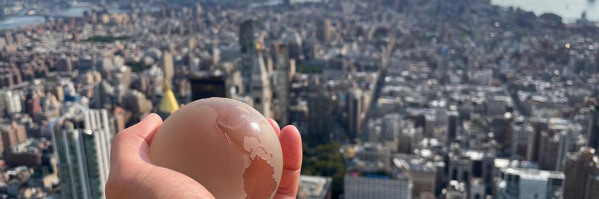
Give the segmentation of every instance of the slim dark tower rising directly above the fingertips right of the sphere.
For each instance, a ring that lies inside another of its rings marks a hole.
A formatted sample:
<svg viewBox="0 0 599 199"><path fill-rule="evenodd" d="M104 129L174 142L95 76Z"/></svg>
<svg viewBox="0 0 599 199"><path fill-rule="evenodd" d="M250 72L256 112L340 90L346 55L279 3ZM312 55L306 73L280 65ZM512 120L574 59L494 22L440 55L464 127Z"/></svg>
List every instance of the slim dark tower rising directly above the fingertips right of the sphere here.
<svg viewBox="0 0 599 199"><path fill-rule="evenodd" d="M289 69L289 46L280 44L277 53L277 97L279 98L279 111L281 113L279 123L282 126L289 124L289 90L291 89Z"/></svg>

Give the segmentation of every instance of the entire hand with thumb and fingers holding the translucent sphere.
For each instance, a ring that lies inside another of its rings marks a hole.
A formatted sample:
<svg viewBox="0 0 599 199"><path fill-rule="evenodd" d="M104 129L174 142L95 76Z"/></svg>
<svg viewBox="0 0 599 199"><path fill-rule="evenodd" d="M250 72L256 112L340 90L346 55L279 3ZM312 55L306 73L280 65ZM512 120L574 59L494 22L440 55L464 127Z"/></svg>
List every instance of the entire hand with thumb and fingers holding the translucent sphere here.
<svg viewBox="0 0 599 199"><path fill-rule="evenodd" d="M301 137L293 125L273 126L283 151L283 174L275 199L295 198L302 161ZM185 174L150 161L150 145L162 119L150 114L140 123L120 131L110 150L107 198L214 198L200 183Z"/></svg>

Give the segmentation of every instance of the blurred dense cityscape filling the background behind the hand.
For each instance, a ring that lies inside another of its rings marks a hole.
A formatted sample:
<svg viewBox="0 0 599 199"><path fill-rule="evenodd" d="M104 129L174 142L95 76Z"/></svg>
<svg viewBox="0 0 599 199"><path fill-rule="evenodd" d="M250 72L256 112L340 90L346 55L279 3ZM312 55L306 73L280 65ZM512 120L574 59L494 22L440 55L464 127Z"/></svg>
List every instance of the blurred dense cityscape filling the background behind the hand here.
<svg viewBox="0 0 599 199"><path fill-rule="evenodd" d="M586 13L4 0L0 19L0 198L104 198L115 134L206 97L298 127L298 198L599 198Z"/></svg>

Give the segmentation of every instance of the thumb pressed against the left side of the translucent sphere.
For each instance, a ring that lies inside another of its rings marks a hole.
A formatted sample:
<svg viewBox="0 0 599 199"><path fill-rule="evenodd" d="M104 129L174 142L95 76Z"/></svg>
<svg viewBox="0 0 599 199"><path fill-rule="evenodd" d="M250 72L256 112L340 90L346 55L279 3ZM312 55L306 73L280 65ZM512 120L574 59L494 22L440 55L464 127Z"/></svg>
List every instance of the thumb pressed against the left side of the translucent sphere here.
<svg viewBox="0 0 599 199"><path fill-rule="evenodd" d="M111 167L130 161L150 162L150 143L162 119L156 114L147 115L139 123L116 134L110 149Z"/></svg>

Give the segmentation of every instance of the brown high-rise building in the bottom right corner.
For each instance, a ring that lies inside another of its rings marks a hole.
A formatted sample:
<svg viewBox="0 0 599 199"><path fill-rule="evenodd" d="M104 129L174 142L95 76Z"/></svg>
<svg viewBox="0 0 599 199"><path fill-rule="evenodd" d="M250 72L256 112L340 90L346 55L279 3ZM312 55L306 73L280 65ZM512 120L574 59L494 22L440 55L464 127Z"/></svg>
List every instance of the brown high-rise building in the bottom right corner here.
<svg viewBox="0 0 599 199"><path fill-rule="evenodd" d="M564 169L565 199L596 198L599 157L595 155L594 148L584 146L578 152L567 154L564 168L567 168Z"/></svg>

